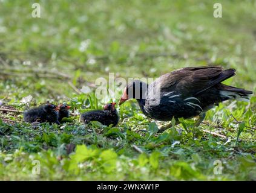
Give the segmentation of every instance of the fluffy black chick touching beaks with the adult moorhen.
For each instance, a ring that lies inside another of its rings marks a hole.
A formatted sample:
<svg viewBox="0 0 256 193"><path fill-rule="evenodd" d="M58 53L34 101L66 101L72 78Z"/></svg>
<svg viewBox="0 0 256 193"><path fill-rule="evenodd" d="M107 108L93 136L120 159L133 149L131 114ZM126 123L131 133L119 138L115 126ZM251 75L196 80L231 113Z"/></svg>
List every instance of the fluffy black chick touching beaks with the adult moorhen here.
<svg viewBox="0 0 256 193"><path fill-rule="evenodd" d="M116 103L105 104L103 110L93 110L85 112L80 116L80 122L88 124L90 121L99 121L102 125L116 126L119 121L117 110L114 107Z"/></svg>

